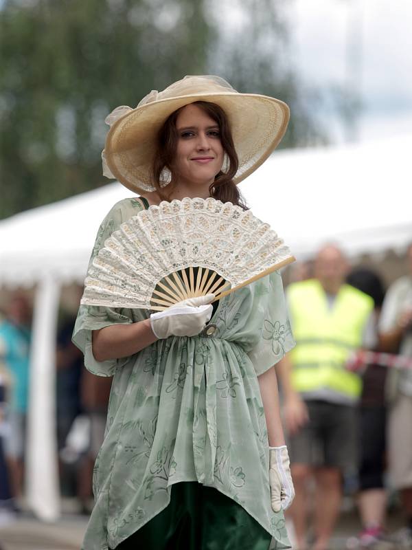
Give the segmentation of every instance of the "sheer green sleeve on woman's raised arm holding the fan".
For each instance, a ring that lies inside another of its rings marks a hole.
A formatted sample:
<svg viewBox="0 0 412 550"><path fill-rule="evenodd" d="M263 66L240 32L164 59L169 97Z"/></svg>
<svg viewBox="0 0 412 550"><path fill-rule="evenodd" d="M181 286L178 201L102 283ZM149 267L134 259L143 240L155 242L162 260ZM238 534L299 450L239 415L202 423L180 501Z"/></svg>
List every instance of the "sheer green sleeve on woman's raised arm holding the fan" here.
<svg viewBox="0 0 412 550"><path fill-rule="evenodd" d="M91 253L89 266L98 254L104 242L119 228L119 225L137 214L143 207L135 199L125 199L115 204L102 221L95 245ZM126 363L128 358L96 361L92 351L92 332L110 325L128 324L134 322L131 309L110 308L101 306L80 305L76 324L73 329L72 341L84 353L84 366L98 376L113 376L117 367Z"/></svg>

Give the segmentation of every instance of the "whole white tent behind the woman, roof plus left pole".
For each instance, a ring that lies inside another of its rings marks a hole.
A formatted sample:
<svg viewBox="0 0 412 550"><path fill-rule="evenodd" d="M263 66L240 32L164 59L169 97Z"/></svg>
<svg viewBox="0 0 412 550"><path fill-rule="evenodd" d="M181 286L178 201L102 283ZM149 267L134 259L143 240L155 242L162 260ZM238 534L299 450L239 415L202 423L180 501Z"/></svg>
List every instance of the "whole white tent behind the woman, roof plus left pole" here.
<svg viewBox="0 0 412 550"><path fill-rule="evenodd" d="M334 240L350 254L412 241L412 135L376 143L275 153L241 189L298 259ZM38 516L58 515L54 347L62 284L81 282L100 222L133 195L109 184L0 222L0 285L36 285L28 498Z"/></svg>

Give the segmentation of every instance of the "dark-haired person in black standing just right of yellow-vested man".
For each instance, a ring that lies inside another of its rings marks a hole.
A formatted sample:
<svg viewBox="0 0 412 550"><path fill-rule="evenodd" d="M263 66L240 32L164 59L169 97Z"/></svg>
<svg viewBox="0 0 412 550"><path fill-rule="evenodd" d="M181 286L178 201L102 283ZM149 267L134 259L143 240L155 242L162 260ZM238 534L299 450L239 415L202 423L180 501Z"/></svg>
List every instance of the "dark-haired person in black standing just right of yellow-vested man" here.
<svg viewBox="0 0 412 550"><path fill-rule="evenodd" d="M374 333L371 334L371 343L375 340L375 345L370 349L378 351L378 320L385 296L382 281L374 271L358 268L347 276L347 283L365 292L374 300L374 326L371 325ZM384 485L387 368L377 364L367 364L365 367L358 408L358 506L363 530L356 540L356 546L378 549L381 542L387 543L385 536L387 493Z"/></svg>

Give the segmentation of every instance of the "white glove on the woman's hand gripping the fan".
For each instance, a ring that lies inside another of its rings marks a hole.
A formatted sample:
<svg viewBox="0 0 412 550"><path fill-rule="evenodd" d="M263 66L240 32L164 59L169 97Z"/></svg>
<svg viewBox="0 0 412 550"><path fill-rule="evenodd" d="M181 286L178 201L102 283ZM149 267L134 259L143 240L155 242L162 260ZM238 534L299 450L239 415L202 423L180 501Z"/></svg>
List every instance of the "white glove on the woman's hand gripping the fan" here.
<svg viewBox="0 0 412 550"><path fill-rule="evenodd" d="M157 338L168 336L196 336L209 322L213 307L214 294L188 298L178 302L165 311L150 316L150 325Z"/></svg>

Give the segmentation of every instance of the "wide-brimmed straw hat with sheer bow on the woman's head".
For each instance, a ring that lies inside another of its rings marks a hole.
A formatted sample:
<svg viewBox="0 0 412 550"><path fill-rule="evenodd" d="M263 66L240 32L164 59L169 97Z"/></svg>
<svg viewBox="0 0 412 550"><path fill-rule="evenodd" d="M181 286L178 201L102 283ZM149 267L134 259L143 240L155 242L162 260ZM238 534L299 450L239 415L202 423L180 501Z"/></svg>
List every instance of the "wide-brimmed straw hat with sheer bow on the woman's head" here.
<svg viewBox="0 0 412 550"><path fill-rule="evenodd" d="M169 115L196 101L216 103L229 118L239 157L236 184L266 160L288 125L289 108L282 101L240 94L218 76L185 76L163 91L152 90L135 109L117 107L108 115L103 174L135 192L155 190L151 168L157 133Z"/></svg>

